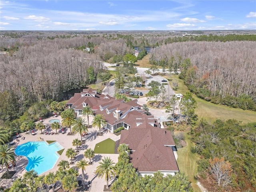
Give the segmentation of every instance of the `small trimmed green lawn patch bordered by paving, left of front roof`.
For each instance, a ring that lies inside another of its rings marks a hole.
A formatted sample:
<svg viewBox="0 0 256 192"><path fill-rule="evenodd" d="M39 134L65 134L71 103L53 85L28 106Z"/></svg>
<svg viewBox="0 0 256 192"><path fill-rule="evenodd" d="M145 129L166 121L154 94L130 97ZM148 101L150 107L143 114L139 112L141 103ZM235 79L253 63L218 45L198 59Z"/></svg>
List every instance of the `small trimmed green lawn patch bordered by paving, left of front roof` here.
<svg viewBox="0 0 256 192"><path fill-rule="evenodd" d="M115 142L108 138L95 145L94 153L100 154L114 154L115 153Z"/></svg>

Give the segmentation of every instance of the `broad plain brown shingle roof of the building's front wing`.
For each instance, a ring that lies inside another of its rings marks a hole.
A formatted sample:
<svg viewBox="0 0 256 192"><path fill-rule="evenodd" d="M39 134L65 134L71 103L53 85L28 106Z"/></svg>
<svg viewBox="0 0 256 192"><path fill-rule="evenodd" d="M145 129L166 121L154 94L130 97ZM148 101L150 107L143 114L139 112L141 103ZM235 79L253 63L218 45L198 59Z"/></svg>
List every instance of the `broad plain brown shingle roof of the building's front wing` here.
<svg viewBox="0 0 256 192"><path fill-rule="evenodd" d="M129 145L131 162L138 172L179 171L170 131L152 126L122 130L120 144L123 143Z"/></svg>

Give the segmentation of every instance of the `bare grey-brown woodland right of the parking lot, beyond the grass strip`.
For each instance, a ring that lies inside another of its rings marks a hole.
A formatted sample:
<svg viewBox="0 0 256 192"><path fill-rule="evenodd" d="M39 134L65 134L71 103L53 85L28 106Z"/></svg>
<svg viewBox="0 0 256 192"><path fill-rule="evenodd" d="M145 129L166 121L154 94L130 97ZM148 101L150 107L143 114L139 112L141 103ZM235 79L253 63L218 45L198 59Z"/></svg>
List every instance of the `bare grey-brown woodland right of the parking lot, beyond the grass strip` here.
<svg viewBox="0 0 256 192"><path fill-rule="evenodd" d="M256 110L256 42L182 42L154 48L151 59L180 68L180 78L199 97Z"/></svg>

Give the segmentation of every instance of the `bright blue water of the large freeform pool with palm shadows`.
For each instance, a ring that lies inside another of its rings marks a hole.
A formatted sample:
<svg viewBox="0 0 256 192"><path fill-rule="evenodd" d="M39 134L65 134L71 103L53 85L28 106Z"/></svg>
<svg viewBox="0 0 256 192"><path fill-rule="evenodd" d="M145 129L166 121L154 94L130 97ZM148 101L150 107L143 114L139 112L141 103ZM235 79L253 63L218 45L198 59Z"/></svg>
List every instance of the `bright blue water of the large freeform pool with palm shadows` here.
<svg viewBox="0 0 256 192"><path fill-rule="evenodd" d="M58 142L30 141L17 146L14 152L28 158L27 171L34 169L41 174L53 168L59 158L56 152L61 149L63 147Z"/></svg>

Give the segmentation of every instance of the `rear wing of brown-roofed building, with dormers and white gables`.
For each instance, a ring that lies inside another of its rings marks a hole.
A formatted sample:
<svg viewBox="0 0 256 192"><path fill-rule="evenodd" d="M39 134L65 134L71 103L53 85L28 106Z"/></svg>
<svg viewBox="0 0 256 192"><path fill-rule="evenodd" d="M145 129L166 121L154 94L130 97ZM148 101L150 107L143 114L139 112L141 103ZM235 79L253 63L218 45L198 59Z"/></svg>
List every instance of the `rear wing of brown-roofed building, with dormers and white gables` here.
<svg viewBox="0 0 256 192"><path fill-rule="evenodd" d="M66 103L69 108L75 110L77 116L82 116L82 109L90 106L94 114L103 114L107 120L105 128L114 132L117 128L124 127L158 127L158 122L154 116L145 114L138 100L124 103L124 100L116 100L109 95L97 93L93 89L84 89L80 93L75 93Z"/></svg>

